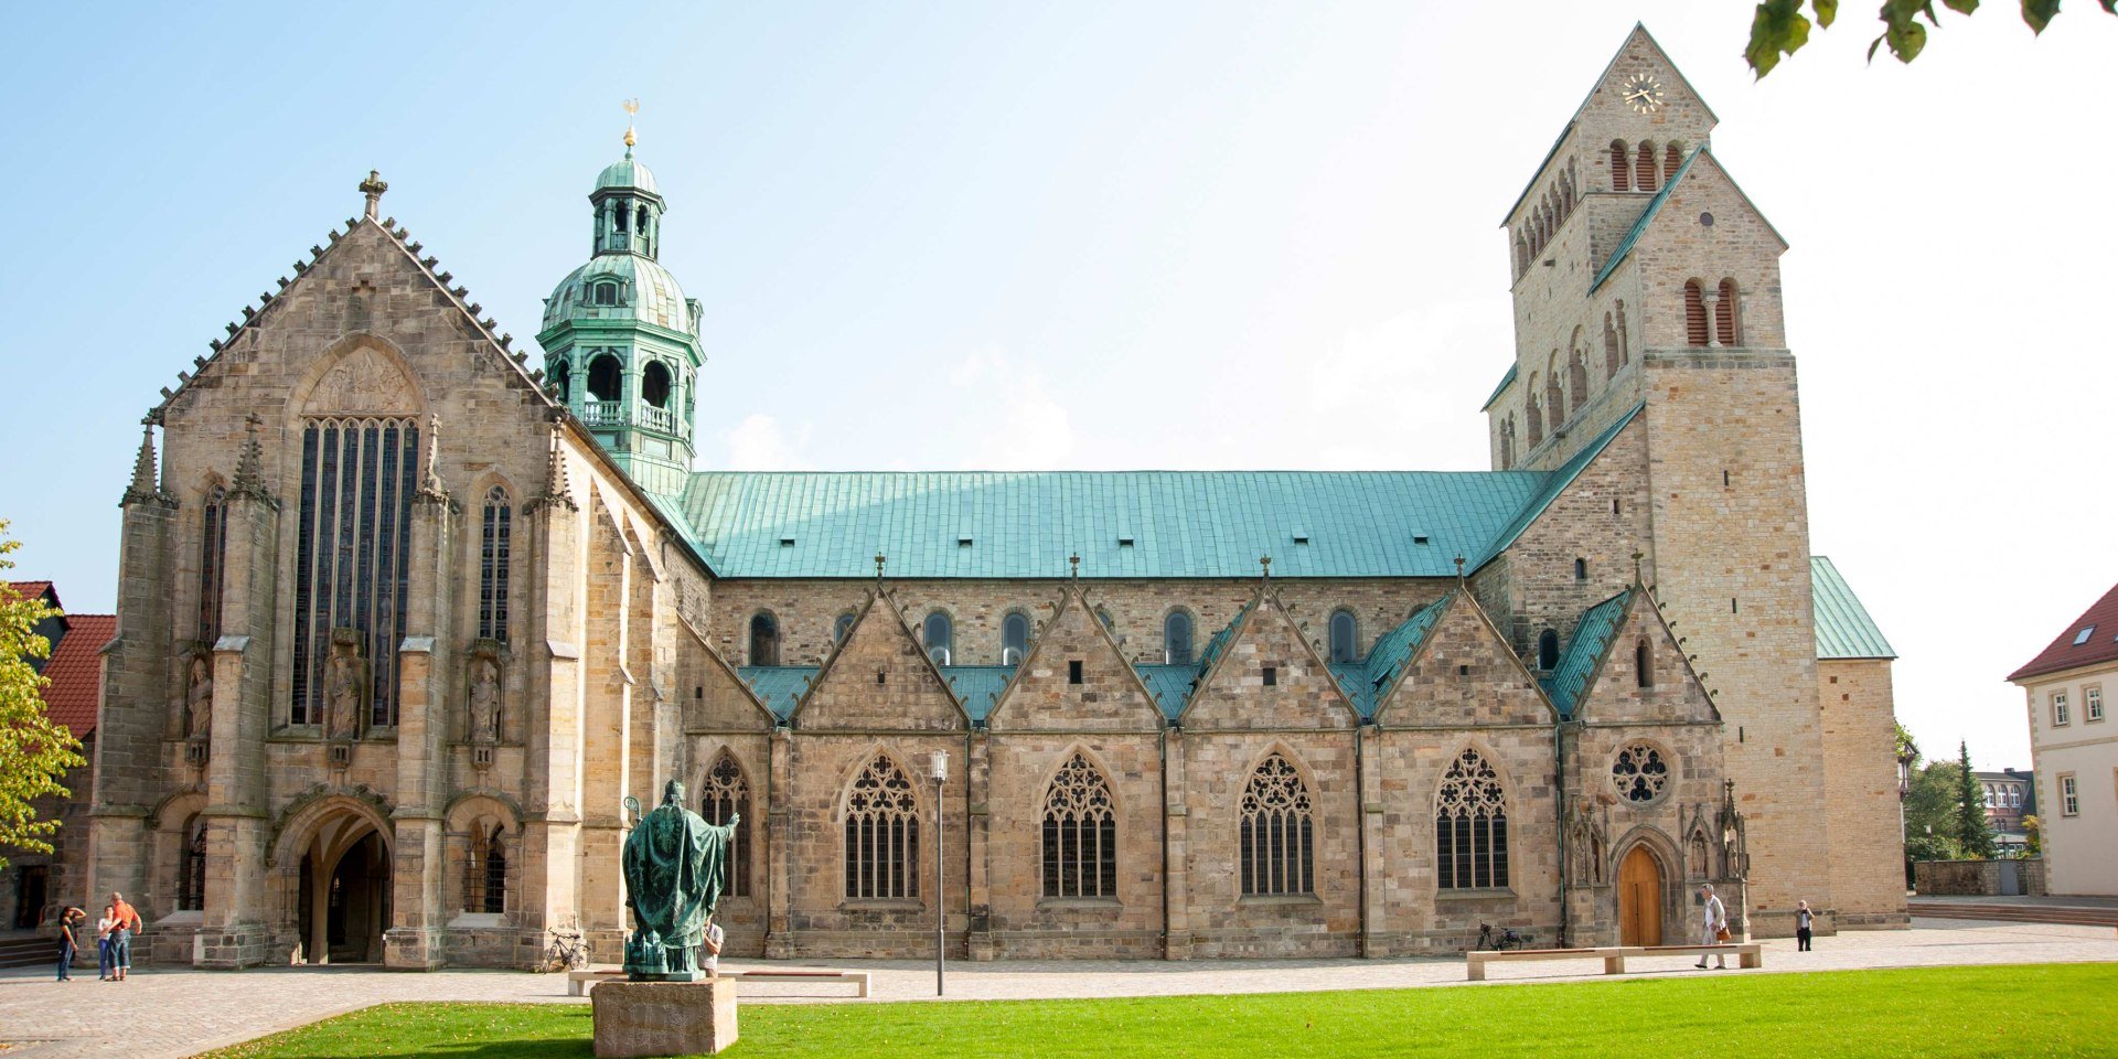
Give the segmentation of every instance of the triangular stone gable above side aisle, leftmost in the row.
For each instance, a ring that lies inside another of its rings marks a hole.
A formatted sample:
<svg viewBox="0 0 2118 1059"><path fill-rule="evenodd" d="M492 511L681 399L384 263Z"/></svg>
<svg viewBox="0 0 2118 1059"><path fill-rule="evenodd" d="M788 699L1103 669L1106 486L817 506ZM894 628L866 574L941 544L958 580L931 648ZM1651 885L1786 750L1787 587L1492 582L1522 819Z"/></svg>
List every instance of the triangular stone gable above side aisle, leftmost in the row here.
<svg viewBox="0 0 2118 1059"><path fill-rule="evenodd" d="M970 726L964 703L885 591L868 591L845 642L824 659L807 695L796 703L792 722L809 731Z"/></svg>

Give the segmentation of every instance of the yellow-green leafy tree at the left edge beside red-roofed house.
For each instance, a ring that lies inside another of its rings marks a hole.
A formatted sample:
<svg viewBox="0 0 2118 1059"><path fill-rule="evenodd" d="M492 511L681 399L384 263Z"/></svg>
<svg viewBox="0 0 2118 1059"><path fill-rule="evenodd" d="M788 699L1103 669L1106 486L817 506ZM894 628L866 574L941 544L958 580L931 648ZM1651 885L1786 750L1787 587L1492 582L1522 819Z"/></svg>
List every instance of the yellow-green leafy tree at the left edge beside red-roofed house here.
<svg viewBox="0 0 2118 1059"><path fill-rule="evenodd" d="M0 519L0 570L15 568L6 555L21 546L6 538L6 525ZM74 733L44 714L49 680L30 667L30 659L51 657L51 640L36 635L36 623L53 614L42 599L23 599L0 580L0 847L32 854L51 854L47 839L59 830L57 820L36 818L36 798L68 796L66 771L87 765ZM0 856L0 870L6 864Z"/></svg>

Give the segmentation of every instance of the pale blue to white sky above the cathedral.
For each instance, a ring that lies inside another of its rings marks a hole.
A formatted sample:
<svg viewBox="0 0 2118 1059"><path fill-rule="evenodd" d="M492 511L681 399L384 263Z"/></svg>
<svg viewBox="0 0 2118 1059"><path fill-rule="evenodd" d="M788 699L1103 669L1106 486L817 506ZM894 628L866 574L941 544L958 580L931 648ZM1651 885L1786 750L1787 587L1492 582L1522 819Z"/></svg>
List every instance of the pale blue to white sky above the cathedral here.
<svg viewBox="0 0 2118 1059"><path fill-rule="evenodd" d="M21 6L13 576L112 608L140 415L369 169L534 345L627 97L703 303L701 468L1480 470L1500 220L1644 21L1792 244L1811 544L1900 720L2027 769L2006 674L2118 580L2118 19L1944 13L1900 66L1872 6L1762 83L1739 0Z"/></svg>

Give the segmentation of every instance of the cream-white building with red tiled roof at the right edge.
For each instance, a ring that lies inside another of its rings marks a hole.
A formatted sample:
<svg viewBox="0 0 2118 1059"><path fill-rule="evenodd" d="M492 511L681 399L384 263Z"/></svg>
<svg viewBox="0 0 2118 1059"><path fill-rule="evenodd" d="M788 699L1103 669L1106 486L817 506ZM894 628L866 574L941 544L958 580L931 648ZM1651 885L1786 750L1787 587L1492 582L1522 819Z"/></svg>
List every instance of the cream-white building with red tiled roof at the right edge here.
<svg viewBox="0 0 2118 1059"><path fill-rule="evenodd" d="M2046 885L2118 896L2118 587L2008 680L2029 697Z"/></svg>

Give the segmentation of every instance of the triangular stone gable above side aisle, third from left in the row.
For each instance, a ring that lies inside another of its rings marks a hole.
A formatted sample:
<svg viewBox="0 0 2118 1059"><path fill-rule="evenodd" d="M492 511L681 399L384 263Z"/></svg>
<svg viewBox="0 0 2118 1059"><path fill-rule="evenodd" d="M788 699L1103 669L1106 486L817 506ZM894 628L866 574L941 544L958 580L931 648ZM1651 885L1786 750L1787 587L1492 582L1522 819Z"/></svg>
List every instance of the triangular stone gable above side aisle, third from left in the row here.
<svg viewBox="0 0 2118 1059"><path fill-rule="evenodd" d="M1360 714L1288 608L1260 589L1207 644L1180 720L1186 729L1351 729Z"/></svg>

